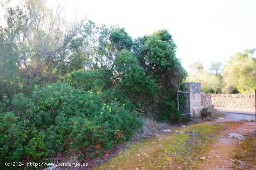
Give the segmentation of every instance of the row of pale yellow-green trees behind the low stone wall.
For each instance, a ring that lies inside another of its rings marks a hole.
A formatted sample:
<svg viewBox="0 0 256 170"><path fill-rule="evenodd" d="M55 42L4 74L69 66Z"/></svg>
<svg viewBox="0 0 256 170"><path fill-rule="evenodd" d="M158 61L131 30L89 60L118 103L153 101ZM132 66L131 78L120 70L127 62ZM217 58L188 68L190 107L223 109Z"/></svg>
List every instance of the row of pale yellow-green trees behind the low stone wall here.
<svg viewBox="0 0 256 170"><path fill-rule="evenodd" d="M211 62L210 72L203 69L202 63L192 63L187 81L201 82L202 90L207 93L253 94L256 84L254 52L255 49L247 49L237 53L223 69L222 63Z"/></svg>

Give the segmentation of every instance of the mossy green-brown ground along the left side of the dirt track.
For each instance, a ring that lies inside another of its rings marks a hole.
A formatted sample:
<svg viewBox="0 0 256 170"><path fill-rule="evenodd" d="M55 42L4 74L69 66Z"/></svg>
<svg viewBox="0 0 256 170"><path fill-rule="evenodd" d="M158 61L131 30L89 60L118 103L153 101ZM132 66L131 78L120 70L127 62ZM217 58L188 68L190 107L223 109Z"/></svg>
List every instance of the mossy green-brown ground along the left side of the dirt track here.
<svg viewBox="0 0 256 170"><path fill-rule="evenodd" d="M206 156L221 126L200 123L130 145L117 157L94 170L196 170L200 157Z"/></svg>

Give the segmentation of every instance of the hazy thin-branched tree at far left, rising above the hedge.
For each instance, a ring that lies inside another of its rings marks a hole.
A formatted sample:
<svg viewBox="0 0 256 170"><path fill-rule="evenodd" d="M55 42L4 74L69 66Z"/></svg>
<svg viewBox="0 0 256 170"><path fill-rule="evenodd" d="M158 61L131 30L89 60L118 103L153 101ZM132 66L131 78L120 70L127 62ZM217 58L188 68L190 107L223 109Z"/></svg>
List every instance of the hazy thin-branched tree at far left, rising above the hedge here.
<svg viewBox="0 0 256 170"><path fill-rule="evenodd" d="M67 24L60 7L54 12L44 1L30 0L7 7L5 19L7 26L0 27L0 70L5 71L0 76L7 89L0 93L13 95L33 88L35 82L55 81L69 65L81 68L77 66L83 63L77 38L81 24Z"/></svg>

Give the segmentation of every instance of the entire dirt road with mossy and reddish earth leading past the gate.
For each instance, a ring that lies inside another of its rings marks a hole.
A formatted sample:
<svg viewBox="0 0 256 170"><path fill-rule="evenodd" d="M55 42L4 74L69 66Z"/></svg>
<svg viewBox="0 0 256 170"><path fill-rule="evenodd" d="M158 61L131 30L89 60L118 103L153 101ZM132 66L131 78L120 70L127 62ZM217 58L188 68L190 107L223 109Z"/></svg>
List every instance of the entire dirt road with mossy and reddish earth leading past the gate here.
<svg viewBox="0 0 256 170"><path fill-rule="evenodd" d="M142 139L93 170L256 170L255 122L242 121L254 117L225 115Z"/></svg>

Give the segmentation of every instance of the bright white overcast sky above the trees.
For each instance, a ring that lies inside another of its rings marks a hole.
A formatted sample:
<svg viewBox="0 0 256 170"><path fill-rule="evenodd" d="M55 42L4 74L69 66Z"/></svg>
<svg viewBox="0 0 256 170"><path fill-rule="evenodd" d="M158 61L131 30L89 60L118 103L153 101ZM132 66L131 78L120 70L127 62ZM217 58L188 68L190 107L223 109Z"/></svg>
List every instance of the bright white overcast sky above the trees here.
<svg viewBox="0 0 256 170"><path fill-rule="evenodd" d="M227 63L229 57L256 48L256 0L48 0L61 3L64 16L124 27L132 38L167 29L182 66L200 61ZM0 12L1 14L1 12Z"/></svg>

